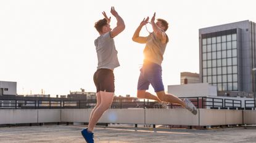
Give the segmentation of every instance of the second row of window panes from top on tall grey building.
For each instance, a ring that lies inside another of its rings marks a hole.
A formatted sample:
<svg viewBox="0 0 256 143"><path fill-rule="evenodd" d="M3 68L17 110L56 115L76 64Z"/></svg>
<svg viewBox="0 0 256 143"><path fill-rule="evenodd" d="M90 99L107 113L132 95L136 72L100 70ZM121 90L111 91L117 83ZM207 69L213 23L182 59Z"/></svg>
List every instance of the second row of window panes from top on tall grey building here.
<svg viewBox="0 0 256 143"><path fill-rule="evenodd" d="M227 50L227 49L236 49L237 48L237 41L232 42L224 42L218 44L209 44L202 46L202 52L215 52L220 50Z"/></svg>

